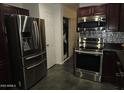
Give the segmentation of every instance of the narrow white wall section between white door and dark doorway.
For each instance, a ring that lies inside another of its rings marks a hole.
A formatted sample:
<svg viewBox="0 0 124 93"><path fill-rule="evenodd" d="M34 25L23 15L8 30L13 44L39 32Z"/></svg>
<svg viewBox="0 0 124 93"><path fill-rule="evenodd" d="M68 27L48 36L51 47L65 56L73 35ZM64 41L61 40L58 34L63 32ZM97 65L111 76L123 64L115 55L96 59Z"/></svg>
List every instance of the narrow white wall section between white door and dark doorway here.
<svg viewBox="0 0 124 93"><path fill-rule="evenodd" d="M63 6L56 4L55 11L55 45L56 64L63 64Z"/></svg>

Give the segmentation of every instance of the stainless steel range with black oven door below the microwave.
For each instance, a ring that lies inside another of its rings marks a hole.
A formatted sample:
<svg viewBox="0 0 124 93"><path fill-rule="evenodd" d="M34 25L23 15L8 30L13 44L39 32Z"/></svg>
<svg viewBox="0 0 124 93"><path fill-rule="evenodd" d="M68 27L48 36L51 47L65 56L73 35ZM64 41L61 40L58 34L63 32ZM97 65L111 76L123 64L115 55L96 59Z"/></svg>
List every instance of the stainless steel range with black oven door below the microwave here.
<svg viewBox="0 0 124 93"><path fill-rule="evenodd" d="M84 79L101 82L103 39L86 38L79 35L75 49L75 75Z"/></svg>

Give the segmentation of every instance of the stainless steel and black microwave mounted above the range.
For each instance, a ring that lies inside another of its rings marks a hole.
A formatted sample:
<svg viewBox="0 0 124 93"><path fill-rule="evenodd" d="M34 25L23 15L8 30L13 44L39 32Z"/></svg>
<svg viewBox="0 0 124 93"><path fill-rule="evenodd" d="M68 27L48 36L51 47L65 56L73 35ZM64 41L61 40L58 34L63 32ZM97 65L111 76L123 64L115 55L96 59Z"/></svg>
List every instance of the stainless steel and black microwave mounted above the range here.
<svg viewBox="0 0 124 93"><path fill-rule="evenodd" d="M78 18L78 32L80 31L103 31L106 30L105 16L90 16Z"/></svg>

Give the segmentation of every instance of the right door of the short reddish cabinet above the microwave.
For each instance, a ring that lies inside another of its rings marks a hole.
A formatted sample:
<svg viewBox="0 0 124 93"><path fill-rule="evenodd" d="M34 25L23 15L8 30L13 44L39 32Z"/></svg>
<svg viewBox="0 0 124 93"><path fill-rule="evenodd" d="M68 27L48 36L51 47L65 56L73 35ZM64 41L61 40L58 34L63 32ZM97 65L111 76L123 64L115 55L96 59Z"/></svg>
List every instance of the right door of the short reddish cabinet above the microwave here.
<svg viewBox="0 0 124 93"><path fill-rule="evenodd" d="M106 5L94 6L93 15L106 15Z"/></svg>

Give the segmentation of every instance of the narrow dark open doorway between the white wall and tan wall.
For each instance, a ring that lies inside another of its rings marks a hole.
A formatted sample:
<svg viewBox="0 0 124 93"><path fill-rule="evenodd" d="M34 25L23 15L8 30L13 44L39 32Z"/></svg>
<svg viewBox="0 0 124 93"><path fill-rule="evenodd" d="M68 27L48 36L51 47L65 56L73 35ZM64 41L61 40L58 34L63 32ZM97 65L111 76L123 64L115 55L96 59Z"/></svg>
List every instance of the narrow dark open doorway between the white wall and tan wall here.
<svg viewBox="0 0 124 93"><path fill-rule="evenodd" d="M69 38L69 18L63 17L63 59L64 60L66 60L69 57L68 38Z"/></svg>

